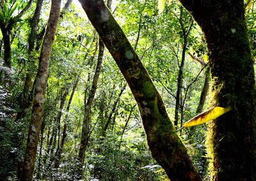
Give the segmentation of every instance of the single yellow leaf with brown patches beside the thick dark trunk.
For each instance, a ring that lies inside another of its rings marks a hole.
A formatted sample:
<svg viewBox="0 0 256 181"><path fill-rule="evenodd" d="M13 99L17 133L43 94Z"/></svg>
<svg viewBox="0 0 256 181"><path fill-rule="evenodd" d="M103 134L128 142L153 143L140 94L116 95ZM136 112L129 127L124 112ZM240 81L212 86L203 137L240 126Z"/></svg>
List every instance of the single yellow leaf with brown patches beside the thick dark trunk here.
<svg viewBox="0 0 256 181"><path fill-rule="evenodd" d="M190 126L196 126L198 124L203 124L205 122L208 122L209 120L216 119L223 115L224 113L227 113L231 110L230 107L228 108L221 108L221 107L214 107L211 108L203 113L200 113L199 115L196 115L192 119L188 120L183 127L190 127Z"/></svg>

